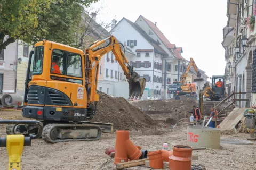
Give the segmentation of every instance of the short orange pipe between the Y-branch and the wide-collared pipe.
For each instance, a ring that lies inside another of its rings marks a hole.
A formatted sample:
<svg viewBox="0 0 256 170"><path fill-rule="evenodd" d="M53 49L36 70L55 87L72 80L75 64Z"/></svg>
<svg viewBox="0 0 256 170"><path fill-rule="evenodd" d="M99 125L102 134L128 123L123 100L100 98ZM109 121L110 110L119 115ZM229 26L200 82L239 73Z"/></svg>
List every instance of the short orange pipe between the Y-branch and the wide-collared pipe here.
<svg viewBox="0 0 256 170"><path fill-rule="evenodd" d="M163 169L164 159L162 156L162 150L148 152L149 166L153 169Z"/></svg>

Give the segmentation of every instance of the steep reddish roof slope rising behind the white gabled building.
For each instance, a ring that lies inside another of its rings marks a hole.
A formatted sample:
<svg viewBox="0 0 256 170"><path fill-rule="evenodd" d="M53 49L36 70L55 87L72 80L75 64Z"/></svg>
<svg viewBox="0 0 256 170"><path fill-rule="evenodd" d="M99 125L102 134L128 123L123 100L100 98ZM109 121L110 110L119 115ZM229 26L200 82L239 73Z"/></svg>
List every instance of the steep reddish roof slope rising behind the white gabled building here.
<svg viewBox="0 0 256 170"><path fill-rule="evenodd" d="M156 27L156 25L153 22L149 21L142 15L140 15L140 16L147 22L149 27L154 30L156 35L163 41L163 43L165 44L166 47L175 49L175 44L171 44L170 41L164 36L164 34Z"/></svg>

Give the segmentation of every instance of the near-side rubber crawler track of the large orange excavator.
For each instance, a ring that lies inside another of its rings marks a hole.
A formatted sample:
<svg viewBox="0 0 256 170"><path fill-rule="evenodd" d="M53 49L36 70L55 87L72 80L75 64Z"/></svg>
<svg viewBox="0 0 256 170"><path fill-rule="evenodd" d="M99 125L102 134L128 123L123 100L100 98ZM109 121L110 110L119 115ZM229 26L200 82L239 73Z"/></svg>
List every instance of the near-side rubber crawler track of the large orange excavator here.
<svg viewBox="0 0 256 170"><path fill-rule="evenodd" d="M42 139L50 143L93 141L100 137L100 126L91 124L47 124L42 133Z"/></svg>

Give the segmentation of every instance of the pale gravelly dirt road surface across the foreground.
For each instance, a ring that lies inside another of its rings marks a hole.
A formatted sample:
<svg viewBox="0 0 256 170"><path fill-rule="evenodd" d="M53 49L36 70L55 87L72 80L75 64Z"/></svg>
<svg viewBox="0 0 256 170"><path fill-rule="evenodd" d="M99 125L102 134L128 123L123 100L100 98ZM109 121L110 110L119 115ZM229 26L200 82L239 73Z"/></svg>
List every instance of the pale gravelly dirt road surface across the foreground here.
<svg viewBox="0 0 256 170"><path fill-rule="evenodd" d="M150 115L154 119L156 115ZM0 118L21 118L20 111L0 111ZM155 117L156 118L156 117ZM5 135L5 125L0 125L0 136ZM221 138L235 138L246 140L249 134L221 135ZM162 149L164 142L171 148L173 145L186 145L187 128L166 128L159 123L157 128L145 128L131 130L130 139L147 150ZM86 142L62 142L50 144L42 139L32 141L30 147L25 147L21 156L22 169L114 169L106 167L111 161L105 154L108 147L115 146L115 133L103 133L99 141ZM253 145L221 145L219 150L206 149L193 151L193 155L199 155L199 160L193 160L206 167L207 170L215 169L255 169L256 142ZM6 148L0 148L0 169L7 169L8 157ZM114 166L113 166L114 167ZM142 169L142 168L138 168ZM150 168L143 168L150 169Z"/></svg>

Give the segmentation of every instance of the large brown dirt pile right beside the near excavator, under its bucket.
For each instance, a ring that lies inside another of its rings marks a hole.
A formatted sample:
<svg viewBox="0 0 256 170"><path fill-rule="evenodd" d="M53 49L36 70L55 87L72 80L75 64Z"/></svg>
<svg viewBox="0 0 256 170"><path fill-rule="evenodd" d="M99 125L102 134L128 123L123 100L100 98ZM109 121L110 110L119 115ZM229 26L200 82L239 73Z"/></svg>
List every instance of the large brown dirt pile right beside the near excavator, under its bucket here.
<svg viewBox="0 0 256 170"><path fill-rule="evenodd" d="M131 130L156 125L146 113L131 105L123 97L110 97L100 92L100 100L93 122L113 123L115 130Z"/></svg>

